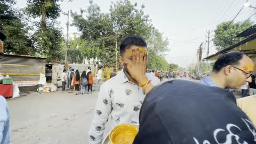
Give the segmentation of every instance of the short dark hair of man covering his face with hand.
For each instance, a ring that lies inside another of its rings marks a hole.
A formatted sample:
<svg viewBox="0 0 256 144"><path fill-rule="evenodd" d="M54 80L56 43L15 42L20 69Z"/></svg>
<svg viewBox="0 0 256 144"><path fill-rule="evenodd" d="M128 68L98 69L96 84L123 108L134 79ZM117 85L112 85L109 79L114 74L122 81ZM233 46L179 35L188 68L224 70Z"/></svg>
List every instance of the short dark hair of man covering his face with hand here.
<svg viewBox="0 0 256 144"><path fill-rule="evenodd" d="M139 36L128 36L123 39L120 45L120 54L123 55L125 50L129 49L132 45L147 47L147 44L143 38Z"/></svg>

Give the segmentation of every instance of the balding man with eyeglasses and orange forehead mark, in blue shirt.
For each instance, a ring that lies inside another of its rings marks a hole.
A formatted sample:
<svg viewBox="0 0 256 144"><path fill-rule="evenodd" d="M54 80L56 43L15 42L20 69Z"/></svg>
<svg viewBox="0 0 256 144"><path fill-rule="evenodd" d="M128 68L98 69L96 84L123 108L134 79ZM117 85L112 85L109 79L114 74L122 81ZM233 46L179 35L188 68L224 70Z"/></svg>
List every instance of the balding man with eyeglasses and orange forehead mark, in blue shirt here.
<svg viewBox="0 0 256 144"><path fill-rule="evenodd" d="M218 86L225 89L240 89L246 82L252 81L254 63L242 52L229 52L222 54L214 63L212 73L200 83Z"/></svg>

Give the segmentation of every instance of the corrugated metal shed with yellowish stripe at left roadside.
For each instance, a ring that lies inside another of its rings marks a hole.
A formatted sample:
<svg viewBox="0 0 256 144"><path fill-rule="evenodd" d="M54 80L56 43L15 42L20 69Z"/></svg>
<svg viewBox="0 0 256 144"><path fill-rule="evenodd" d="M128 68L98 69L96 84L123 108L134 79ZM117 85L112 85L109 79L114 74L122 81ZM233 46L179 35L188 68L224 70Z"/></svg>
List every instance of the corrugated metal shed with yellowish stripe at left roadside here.
<svg viewBox="0 0 256 144"><path fill-rule="evenodd" d="M12 77L14 83L20 87L20 92L36 91L35 85L39 81L40 73L45 73L45 61L45 58L5 54L0 59L1 73Z"/></svg>

